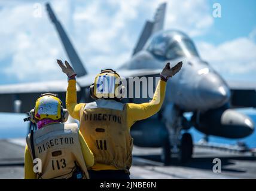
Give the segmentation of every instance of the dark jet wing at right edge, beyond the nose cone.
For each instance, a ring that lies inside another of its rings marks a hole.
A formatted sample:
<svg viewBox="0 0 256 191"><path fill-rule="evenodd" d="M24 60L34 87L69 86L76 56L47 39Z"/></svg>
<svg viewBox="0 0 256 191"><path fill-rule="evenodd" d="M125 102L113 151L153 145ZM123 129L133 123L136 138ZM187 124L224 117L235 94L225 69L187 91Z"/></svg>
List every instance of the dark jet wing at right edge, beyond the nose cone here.
<svg viewBox="0 0 256 191"><path fill-rule="evenodd" d="M255 107L256 108L256 83L227 81L231 90L231 107Z"/></svg>

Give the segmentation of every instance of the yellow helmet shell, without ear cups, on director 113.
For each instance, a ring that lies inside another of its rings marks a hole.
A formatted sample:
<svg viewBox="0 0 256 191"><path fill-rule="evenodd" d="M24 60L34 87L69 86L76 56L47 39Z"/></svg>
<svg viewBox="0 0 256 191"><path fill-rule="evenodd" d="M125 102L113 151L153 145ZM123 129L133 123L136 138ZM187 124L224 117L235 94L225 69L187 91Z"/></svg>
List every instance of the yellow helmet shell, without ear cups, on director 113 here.
<svg viewBox="0 0 256 191"><path fill-rule="evenodd" d="M35 102L36 119L62 119L62 101L54 94L42 94Z"/></svg>

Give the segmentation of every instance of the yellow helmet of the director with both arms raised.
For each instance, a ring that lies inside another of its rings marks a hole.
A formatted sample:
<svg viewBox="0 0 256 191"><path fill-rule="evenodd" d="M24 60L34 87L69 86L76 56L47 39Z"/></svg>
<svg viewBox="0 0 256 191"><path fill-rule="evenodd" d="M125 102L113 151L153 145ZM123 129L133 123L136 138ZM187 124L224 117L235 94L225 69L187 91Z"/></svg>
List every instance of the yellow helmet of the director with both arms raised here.
<svg viewBox="0 0 256 191"><path fill-rule="evenodd" d="M93 98L121 98L121 78L115 70L102 70L96 77L94 84L90 87Z"/></svg>

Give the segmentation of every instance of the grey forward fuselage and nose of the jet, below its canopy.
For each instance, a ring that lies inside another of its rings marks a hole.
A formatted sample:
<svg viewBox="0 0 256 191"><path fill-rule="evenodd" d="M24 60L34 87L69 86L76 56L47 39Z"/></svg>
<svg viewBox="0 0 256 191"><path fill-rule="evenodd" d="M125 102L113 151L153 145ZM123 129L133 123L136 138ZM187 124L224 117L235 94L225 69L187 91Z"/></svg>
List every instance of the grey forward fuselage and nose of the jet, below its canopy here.
<svg viewBox="0 0 256 191"><path fill-rule="evenodd" d="M199 57L158 60L148 51L141 51L120 69L162 69L167 62L174 66L178 61L183 61L182 69L167 82L165 104L174 103L186 112L193 112L227 103L230 97L227 84Z"/></svg>

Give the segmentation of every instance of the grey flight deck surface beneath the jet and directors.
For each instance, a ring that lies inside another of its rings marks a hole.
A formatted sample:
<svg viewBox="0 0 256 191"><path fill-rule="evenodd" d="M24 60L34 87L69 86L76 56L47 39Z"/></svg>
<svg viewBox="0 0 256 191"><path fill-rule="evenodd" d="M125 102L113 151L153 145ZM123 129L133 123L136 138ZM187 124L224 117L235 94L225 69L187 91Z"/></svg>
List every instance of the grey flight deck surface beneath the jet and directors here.
<svg viewBox="0 0 256 191"><path fill-rule="evenodd" d="M0 140L0 178L24 178L24 139ZM160 160L161 149L134 146L131 178L256 178L256 158L252 153L194 147L193 159L169 166ZM221 159L221 172L213 172L213 159Z"/></svg>

